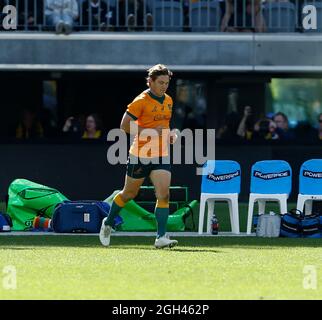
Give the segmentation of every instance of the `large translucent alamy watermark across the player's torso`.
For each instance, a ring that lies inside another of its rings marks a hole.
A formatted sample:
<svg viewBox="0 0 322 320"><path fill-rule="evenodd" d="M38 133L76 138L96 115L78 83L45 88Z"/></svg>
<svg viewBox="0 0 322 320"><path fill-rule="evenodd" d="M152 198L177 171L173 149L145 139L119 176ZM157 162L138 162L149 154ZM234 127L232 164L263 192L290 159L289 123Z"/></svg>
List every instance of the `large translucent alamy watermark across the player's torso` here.
<svg viewBox="0 0 322 320"><path fill-rule="evenodd" d="M131 158L131 164L137 164L140 160L143 164L163 164L170 163L169 157L161 159L151 154L159 154L160 149L165 150L169 147L169 139L175 133L169 129L162 129L161 132L155 129L144 129L138 133L136 125L130 122L130 136L136 139L134 141L134 151L132 154L137 155ZM172 163L173 164L194 164L204 165L207 160L215 159L215 129L184 129L181 132L176 131L176 142L173 144ZM112 129L107 135L107 141L115 142L108 148L107 161L112 164L127 163L127 135L121 129ZM141 146L139 147L139 142ZM133 142L133 141L132 141ZM131 142L131 144L132 144ZM184 145L184 157L182 155L182 145ZM205 148L204 148L205 147ZM167 151L167 153L169 150ZM183 159L184 158L184 159ZM214 168L207 164L207 167L197 168L196 174L203 175L213 173Z"/></svg>

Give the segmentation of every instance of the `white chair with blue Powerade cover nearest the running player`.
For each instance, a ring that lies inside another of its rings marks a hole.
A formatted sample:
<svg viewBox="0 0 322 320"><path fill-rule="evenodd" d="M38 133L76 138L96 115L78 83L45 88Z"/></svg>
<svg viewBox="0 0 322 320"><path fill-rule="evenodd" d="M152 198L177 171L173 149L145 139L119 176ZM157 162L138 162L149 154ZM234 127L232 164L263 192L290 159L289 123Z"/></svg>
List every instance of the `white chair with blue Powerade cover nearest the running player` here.
<svg viewBox="0 0 322 320"><path fill-rule="evenodd" d="M239 234L238 195L240 193L240 177L240 165L236 161L208 160L206 162L201 181L199 234L203 233L206 203L208 204L207 233L210 233L215 201L228 202L231 231Z"/></svg>

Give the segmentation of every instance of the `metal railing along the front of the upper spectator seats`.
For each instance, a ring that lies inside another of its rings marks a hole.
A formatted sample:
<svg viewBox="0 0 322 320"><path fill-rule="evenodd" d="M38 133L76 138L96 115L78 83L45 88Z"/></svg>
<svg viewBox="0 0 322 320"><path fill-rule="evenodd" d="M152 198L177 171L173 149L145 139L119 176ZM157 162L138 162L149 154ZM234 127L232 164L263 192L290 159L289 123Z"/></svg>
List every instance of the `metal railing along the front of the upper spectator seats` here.
<svg viewBox="0 0 322 320"><path fill-rule="evenodd" d="M74 10L73 31L306 32L322 31L322 0L61 0ZM0 0L13 5L20 31L53 31L51 0ZM68 4L70 3L70 4ZM312 11L314 6L315 12ZM57 9L57 10L56 10ZM77 15L75 14L77 13ZM66 17L65 15L65 17ZM316 18L316 20L314 20ZM62 19L64 17L62 16ZM313 20L312 20L313 19ZM314 24L315 22L315 24ZM316 28L306 28L307 25ZM2 30L4 30L2 28Z"/></svg>

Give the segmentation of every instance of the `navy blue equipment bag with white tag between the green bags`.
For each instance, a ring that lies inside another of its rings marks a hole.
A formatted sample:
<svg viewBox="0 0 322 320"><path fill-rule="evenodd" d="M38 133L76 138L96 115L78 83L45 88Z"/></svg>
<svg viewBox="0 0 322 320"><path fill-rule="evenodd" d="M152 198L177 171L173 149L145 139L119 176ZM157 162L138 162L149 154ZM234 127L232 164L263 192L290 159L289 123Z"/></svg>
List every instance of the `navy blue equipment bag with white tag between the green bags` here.
<svg viewBox="0 0 322 320"><path fill-rule="evenodd" d="M64 201L55 208L52 227L58 233L98 233L109 209L102 201Z"/></svg>

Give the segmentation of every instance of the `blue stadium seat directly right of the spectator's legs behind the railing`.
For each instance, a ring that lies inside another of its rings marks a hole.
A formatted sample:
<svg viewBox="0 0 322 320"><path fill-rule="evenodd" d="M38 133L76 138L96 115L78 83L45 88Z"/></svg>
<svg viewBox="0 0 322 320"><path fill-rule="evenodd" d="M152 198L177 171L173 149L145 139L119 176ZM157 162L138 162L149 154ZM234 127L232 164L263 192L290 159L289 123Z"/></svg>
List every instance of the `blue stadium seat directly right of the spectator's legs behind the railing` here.
<svg viewBox="0 0 322 320"><path fill-rule="evenodd" d="M297 12L291 2L270 2L263 5L268 32L294 32Z"/></svg>

